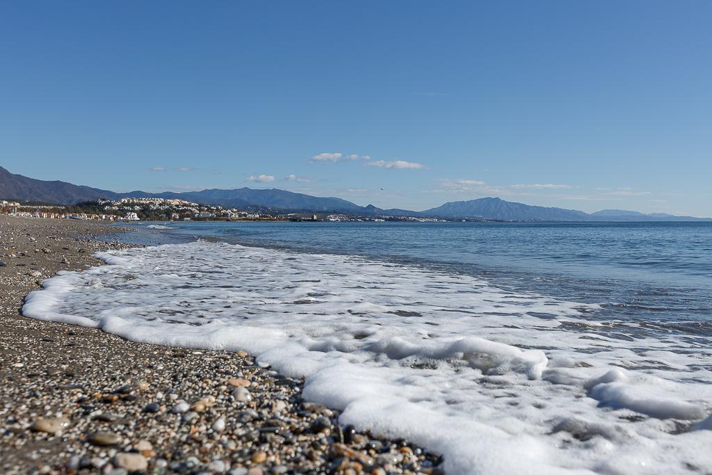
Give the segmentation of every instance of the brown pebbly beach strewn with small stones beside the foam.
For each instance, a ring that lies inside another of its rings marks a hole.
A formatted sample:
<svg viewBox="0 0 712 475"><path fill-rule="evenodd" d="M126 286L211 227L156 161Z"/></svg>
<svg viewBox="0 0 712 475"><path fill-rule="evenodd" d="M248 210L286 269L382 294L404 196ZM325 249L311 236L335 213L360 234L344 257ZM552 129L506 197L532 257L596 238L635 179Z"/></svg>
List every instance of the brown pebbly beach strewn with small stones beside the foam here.
<svg viewBox="0 0 712 475"><path fill-rule="evenodd" d="M339 427L244 352L145 345L19 315L60 270L122 231L0 216L0 473L437 474L439 457Z"/></svg>

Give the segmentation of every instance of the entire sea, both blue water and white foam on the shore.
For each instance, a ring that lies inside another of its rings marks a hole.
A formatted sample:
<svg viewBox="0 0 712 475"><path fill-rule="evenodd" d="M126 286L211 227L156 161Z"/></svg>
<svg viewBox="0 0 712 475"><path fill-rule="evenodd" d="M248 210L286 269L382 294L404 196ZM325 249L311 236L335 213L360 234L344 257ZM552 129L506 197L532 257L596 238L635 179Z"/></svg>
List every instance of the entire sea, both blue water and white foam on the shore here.
<svg viewBox="0 0 712 475"><path fill-rule="evenodd" d="M712 224L136 228L23 312L246 349L451 474L712 471Z"/></svg>

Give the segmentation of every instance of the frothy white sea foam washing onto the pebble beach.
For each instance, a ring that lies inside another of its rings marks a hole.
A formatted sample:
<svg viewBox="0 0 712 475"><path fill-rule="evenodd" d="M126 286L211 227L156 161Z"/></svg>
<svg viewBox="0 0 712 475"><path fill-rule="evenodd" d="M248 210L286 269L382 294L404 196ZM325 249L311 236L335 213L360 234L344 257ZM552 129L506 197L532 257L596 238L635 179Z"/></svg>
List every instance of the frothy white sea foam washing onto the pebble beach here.
<svg viewBox="0 0 712 475"><path fill-rule="evenodd" d="M712 470L712 351L607 335L594 306L471 276L197 242L98 256L23 313L131 340L245 349L341 422L444 454L449 474Z"/></svg>

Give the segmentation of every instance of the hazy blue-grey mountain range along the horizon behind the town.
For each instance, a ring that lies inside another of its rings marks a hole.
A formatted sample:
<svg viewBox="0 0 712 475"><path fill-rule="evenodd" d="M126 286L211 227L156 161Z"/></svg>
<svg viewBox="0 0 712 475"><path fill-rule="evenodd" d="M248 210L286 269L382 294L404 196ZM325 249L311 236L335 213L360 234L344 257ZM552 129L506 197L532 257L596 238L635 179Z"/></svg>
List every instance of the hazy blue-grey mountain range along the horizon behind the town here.
<svg viewBox="0 0 712 475"><path fill-rule="evenodd" d="M273 209L283 212L340 212L359 216L422 216L448 219L492 219L498 221L712 221L710 218L643 214L621 209L585 213L575 209L530 206L499 198L479 198L447 202L422 212L407 209L381 209L372 204L361 207L345 199L313 197L283 189L204 189L200 192L117 193L106 189L78 186L68 182L44 181L12 174L0 167L0 198L51 204L77 204L95 199L181 198L199 204L239 209Z"/></svg>

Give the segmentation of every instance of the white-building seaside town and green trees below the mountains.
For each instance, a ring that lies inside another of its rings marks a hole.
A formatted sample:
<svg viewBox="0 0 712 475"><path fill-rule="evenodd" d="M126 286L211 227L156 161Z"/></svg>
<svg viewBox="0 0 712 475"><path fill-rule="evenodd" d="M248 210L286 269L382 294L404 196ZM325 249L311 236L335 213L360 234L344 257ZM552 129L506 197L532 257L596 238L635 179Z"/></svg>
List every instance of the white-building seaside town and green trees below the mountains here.
<svg viewBox="0 0 712 475"><path fill-rule="evenodd" d="M198 204L184 199L98 199L74 206L0 200L0 214L24 218L85 219L90 221L412 221L445 222L446 219L416 216L352 216L340 213L251 212L236 208Z"/></svg>

